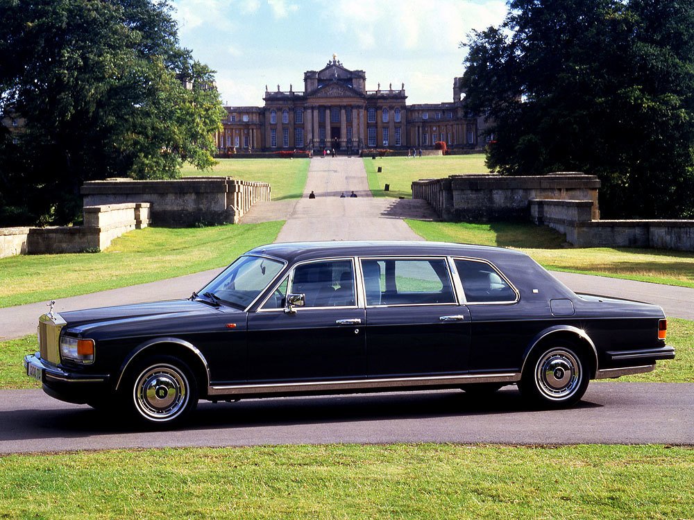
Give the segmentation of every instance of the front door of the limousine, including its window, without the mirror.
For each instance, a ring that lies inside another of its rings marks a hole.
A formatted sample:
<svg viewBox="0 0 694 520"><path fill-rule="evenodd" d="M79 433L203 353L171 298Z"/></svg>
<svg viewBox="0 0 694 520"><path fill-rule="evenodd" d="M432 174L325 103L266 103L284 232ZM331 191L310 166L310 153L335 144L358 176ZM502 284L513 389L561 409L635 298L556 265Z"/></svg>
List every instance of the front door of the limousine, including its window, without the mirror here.
<svg viewBox="0 0 694 520"><path fill-rule="evenodd" d="M287 293L305 306L285 312ZM248 382L362 379L365 311L352 259L302 263L248 315Z"/></svg>

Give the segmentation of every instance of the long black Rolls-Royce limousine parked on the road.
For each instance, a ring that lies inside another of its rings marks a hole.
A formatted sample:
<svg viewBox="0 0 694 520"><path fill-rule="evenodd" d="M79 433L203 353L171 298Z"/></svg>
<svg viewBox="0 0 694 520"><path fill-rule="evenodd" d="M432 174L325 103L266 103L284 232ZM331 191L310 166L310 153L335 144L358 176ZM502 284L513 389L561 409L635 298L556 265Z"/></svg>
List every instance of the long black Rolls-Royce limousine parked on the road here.
<svg viewBox="0 0 694 520"><path fill-rule="evenodd" d="M24 365L57 399L154 427L198 399L512 384L558 408L674 358L666 331L659 306L577 295L514 250L279 243L187 300L44 314Z"/></svg>

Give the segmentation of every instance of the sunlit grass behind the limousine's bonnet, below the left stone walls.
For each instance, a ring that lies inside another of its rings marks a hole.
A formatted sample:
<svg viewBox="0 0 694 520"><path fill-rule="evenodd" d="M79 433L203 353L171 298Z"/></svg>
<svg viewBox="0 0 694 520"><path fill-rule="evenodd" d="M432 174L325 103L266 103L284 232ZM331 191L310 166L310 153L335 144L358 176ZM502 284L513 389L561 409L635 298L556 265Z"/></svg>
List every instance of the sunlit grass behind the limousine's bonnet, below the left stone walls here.
<svg viewBox="0 0 694 520"><path fill-rule="evenodd" d="M226 266L242 252L273 242L283 224L278 221L186 229L146 227L120 236L99 253L3 258L0 307L144 284Z"/></svg>

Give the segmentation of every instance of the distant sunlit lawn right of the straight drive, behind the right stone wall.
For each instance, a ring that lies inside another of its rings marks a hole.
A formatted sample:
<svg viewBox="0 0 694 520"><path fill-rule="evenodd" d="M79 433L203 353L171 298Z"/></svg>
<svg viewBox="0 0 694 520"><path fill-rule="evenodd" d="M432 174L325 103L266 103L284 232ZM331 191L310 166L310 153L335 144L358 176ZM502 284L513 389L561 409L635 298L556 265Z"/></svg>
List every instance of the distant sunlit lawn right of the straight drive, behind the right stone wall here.
<svg viewBox="0 0 694 520"><path fill-rule="evenodd" d="M378 166L382 172L378 173ZM374 197L412 198L412 181L448 177L463 173L487 173L484 154L445 155L443 157L378 157L364 158L366 178ZM390 184L390 191L384 185Z"/></svg>

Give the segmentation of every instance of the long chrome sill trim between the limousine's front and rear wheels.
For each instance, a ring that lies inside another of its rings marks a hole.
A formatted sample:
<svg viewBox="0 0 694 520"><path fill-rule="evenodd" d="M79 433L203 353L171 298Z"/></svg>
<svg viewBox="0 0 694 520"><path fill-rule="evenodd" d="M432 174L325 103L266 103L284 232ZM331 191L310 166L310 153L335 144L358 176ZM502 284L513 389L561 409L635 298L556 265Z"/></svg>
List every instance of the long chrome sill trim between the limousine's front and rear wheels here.
<svg viewBox="0 0 694 520"><path fill-rule="evenodd" d="M464 385L465 383L517 383L520 372L500 374L463 374L456 376L394 377L347 379L345 381L305 381L301 383L268 383L262 385L225 385L208 387L208 395L284 394L291 392L331 392L335 390L369 390L369 388L417 387L430 385Z"/></svg>

